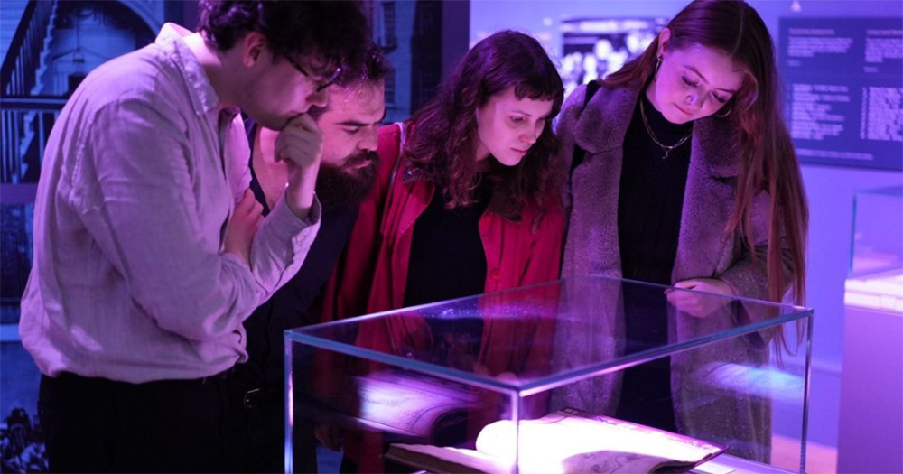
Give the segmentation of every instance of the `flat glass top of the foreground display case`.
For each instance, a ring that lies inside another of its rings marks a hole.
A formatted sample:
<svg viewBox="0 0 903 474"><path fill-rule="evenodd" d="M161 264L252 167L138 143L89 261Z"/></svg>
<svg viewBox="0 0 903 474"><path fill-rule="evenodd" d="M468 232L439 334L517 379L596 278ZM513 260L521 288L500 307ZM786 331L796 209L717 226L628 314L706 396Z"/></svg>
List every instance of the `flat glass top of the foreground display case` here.
<svg viewBox="0 0 903 474"><path fill-rule="evenodd" d="M755 332L808 312L588 276L289 330L286 337L499 390L535 393L549 384ZM625 327L624 321L644 315L655 328ZM515 377L491 374L491 367L505 362L498 358L520 361L505 369Z"/></svg>

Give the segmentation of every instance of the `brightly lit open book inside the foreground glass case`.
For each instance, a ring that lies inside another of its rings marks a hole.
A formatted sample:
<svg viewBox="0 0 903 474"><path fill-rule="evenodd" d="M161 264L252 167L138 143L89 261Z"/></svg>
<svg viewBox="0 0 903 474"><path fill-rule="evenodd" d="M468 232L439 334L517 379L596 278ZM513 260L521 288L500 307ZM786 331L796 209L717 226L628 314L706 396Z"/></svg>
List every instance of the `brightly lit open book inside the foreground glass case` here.
<svg viewBox="0 0 903 474"><path fill-rule="evenodd" d="M389 446L386 459L435 473L509 474L517 457L524 474L684 472L725 451L709 442L573 408L522 420L519 430L507 420L491 423L479 433L476 448L396 443Z"/></svg>

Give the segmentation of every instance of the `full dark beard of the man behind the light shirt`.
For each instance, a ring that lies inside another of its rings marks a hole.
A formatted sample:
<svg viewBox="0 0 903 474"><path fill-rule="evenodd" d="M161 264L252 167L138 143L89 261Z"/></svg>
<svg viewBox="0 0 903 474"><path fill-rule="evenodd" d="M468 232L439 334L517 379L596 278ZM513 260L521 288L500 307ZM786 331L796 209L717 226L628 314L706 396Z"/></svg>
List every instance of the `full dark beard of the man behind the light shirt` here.
<svg viewBox="0 0 903 474"><path fill-rule="evenodd" d="M367 165L358 168L360 163ZM378 165L379 155L376 152L352 154L341 165L321 163L317 174L317 197L330 208L358 207L373 190Z"/></svg>

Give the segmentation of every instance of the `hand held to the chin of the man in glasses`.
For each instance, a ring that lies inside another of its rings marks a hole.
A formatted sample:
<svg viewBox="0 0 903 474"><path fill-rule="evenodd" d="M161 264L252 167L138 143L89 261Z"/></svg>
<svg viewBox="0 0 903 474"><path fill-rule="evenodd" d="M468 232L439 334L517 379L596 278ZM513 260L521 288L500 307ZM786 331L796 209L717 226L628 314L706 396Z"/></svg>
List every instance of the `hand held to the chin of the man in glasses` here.
<svg viewBox="0 0 903 474"><path fill-rule="evenodd" d="M313 191L323 152L323 134L311 116L301 114L289 120L275 141L275 159L288 167L285 197L298 218L307 218L313 205Z"/></svg>

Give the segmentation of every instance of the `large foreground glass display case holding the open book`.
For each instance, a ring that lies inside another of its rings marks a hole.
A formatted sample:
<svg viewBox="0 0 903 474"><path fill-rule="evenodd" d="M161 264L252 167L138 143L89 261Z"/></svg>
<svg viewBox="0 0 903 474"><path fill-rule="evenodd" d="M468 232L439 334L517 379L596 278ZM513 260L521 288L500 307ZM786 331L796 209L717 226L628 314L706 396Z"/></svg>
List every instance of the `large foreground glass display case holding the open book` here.
<svg viewBox="0 0 903 474"><path fill-rule="evenodd" d="M812 315L585 276L288 330L286 469L803 472Z"/></svg>

